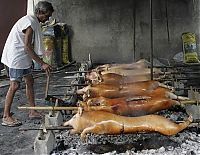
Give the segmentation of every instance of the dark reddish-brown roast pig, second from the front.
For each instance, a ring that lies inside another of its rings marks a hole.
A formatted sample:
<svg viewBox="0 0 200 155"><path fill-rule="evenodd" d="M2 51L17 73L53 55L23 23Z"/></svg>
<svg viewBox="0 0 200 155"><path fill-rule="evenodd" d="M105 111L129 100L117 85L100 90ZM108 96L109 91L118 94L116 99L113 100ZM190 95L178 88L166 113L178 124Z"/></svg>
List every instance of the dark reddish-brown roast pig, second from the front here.
<svg viewBox="0 0 200 155"><path fill-rule="evenodd" d="M175 100L160 97L128 101L130 99L131 98L127 97L115 99L97 97L89 99L86 106L88 109L90 109L90 106L107 106L110 108L104 108L103 111L108 111L122 116L142 116L169 109L172 106L179 104L179 102ZM95 109L93 108L92 110Z"/></svg>

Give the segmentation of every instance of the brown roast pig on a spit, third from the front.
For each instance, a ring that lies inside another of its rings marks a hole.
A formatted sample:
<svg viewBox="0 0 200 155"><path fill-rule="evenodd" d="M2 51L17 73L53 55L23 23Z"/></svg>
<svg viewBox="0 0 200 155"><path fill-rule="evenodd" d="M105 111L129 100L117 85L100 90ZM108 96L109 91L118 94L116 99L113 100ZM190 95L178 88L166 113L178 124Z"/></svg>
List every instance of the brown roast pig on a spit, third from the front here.
<svg viewBox="0 0 200 155"><path fill-rule="evenodd" d="M157 88L163 88L167 91L170 91L169 88L164 88L165 86L161 86L158 81L142 81L142 82L134 82L131 84L125 85L108 85L108 84L97 84L97 85L89 85L82 89L77 90L77 94L85 94L88 98L94 97L107 97L107 98L119 98L125 96L138 96L138 95L146 95ZM165 94L164 94L165 95Z"/></svg>

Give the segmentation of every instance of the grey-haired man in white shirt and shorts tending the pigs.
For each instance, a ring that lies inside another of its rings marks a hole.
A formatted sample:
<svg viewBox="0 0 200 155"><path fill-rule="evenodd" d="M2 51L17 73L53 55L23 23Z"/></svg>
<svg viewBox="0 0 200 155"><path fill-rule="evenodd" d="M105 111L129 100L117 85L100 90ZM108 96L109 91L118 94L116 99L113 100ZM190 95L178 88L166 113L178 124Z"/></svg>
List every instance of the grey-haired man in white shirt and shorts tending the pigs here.
<svg viewBox="0 0 200 155"><path fill-rule="evenodd" d="M1 59L2 63L8 67L10 77L10 87L6 95L2 119L2 125L4 126L18 126L22 124L10 112L15 92L19 89L22 78L24 78L26 83L28 102L30 106L35 106L34 81L31 74L32 60L40 64L47 74L52 69L38 55L43 54L40 22L45 23L52 16L53 12L54 9L51 3L40 1L35 6L35 15L22 17L10 31ZM38 117L41 117L41 115L37 111L29 111L29 118Z"/></svg>

